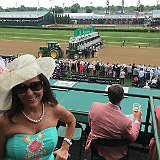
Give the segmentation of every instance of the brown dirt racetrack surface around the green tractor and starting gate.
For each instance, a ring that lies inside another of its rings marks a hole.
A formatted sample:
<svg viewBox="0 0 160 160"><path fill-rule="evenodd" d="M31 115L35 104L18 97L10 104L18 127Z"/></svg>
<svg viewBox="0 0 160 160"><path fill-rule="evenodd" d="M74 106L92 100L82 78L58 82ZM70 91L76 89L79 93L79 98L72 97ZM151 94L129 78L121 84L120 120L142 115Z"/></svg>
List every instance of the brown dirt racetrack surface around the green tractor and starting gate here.
<svg viewBox="0 0 160 160"><path fill-rule="evenodd" d="M46 46L44 42L29 42L29 41L11 41L0 40L0 54L6 55L21 55L33 54L37 57L39 46ZM61 44L62 49L66 50L68 44ZM66 56L64 56L64 59ZM141 64L153 67L160 66L160 48L138 48L138 47L114 47L104 46L98 51L97 58L88 58L87 61L111 62L119 64Z"/></svg>

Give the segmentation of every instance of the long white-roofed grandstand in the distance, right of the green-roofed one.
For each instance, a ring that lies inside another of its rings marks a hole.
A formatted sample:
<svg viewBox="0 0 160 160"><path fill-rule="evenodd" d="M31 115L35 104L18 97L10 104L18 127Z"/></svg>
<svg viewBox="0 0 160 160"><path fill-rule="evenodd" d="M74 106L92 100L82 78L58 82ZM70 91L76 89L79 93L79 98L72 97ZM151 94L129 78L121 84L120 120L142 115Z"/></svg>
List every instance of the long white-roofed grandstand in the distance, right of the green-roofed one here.
<svg viewBox="0 0 160 160"><path fill-rule="evenodd" d="M65 13L64 13L65 14ZM148 13L132 14L95 14L95 13L66 13L69 14L71 24L114 24L114 25L142 25L144 20L151 17Z"/></svg>

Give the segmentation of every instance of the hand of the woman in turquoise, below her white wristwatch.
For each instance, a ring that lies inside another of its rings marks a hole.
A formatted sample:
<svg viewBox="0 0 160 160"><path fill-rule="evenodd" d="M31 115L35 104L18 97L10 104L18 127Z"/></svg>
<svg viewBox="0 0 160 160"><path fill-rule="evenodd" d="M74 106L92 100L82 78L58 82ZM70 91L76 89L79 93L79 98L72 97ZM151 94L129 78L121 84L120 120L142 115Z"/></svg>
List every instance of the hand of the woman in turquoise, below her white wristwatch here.
<svg viewBox="0 0 160 160"><path fill-rule="evenodd" d="M68 148L64 148L63 146L54 151L53 154L56 156L55 160L67 160L68 159Z"/></svg>

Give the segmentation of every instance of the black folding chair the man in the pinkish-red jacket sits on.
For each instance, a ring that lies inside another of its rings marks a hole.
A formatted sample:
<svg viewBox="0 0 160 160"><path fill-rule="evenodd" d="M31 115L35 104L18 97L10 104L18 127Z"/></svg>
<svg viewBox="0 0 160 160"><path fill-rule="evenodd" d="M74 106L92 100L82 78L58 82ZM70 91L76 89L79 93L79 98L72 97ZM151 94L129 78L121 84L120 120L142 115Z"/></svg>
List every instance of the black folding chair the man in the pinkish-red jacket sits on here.
<svg viewBox="0 0 160 160"><path fill-rule="evenodd" d="M100 146L106 146L106 147L119 147L127 145L129 146L130 141L126 138L122 139L106 139L106 138L95 138L91 142L91 160L105 160L102 156L98 154L98 151L96 148L94 148L94 145L100 145ZM128 160L129 159L129 150L127 154L121 158L121 160Z"/></svg>

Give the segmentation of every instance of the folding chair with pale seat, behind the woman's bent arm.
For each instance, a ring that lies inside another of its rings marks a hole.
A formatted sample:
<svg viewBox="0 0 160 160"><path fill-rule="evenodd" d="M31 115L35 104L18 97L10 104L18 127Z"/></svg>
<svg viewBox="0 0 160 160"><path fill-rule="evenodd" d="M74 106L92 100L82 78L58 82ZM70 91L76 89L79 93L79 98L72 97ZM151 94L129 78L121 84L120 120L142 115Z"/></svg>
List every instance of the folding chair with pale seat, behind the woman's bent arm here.
<svg viewBox="0 0 160 160"><path fill-rule="evenodd" d="M75 154L75 155L78 155L79 156L79 160L81 160L81 154L82 154L82 148L83 148L83 138L86 138L85 137L85 129L86 129L86 124L84 123L79 123L79 122L76 122L76 127L75 127L75 131L74 131L74 135L72 137L72 148L74 146L74 142L76 143L79 143L79 153L76 153L76 152L71 152L71 147L70 147L70 150L69 150L69 153L71 154ZM66 125L62 122L59 122L58 123L58 126L57 126L57 130L58 130L58 137L59 139L63 139L64 136L65 136L65 130L66 130Z"/></svg>

